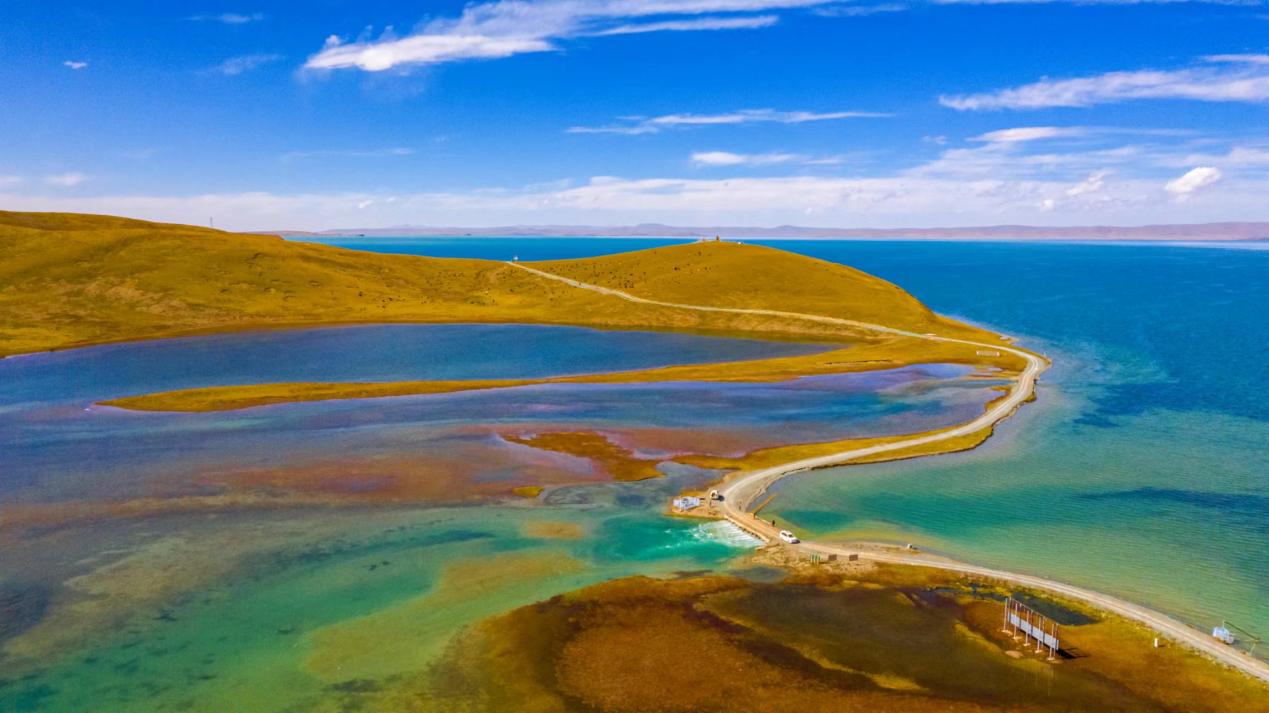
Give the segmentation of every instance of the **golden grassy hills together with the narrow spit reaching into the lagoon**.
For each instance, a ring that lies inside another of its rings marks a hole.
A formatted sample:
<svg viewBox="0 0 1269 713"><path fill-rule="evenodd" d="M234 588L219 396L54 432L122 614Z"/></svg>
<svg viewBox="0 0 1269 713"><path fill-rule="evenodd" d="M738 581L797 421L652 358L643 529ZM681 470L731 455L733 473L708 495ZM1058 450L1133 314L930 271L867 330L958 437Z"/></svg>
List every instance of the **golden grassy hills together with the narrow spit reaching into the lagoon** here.
<svg viewBox="0 0 1269 713"><path fill-rule="evenodd" d="M0 355L369 322L552 324L845 345L811 356L557 379L233 384L109 402L136 410L214 411L552 381L777 381L915 363L1009 372L1022 367L1008 351L981 349L982 343L1004 344L997 335L942 317L895 284L751 245L685 244L519 269L494 260L377 255L273 236L56 213L0 213L0 244L6 254L0 265ZM621 291L637 301L565 280Z"/></svg>

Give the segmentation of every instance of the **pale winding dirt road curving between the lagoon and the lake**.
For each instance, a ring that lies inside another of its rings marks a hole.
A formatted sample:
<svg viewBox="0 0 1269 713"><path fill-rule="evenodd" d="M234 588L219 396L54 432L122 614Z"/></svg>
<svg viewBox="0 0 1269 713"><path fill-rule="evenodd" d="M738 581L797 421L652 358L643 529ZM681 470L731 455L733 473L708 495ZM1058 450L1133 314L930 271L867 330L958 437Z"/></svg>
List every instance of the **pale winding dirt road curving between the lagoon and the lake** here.
<svg viewBox="0 0 1269 713"><path fill-rule="evenodd" d="M841 325L859 330L876 331L882 334L892 334L898 336L909 336L916 339L928 339L930 341L950 341L958 344L968 344L972 346L981 346L983 349L1008 351L1010 354L1022 356L1027 362L1027 367L1018 378L1014 381L1014 386L1010 388L1009 393L995 402L990 409L987 409L982 415L954 426L948 430L938 431L934 434L912 436L910 439L896 440L891 443L869 445L864 448L855 448L850 450L843 450L839 453L832 453L829 455L820 455L816 458L805 458L802 461L793 461L789 463L783 463L780 466L773 466L770 468L764 468L761 471L754 471L751 473L744 473L736 478L730 480L723 486L721 486L720 494L722 495L722 502L718 510L726 516L732 524L737 525L745 532L756 535L764 542L779 543L779 530L770 523L759 519L756 515L749 513L749 507L754 501L761 496L772 483L791 476L793 473L799 473L805 471L811 471L815 468L826 468L830 466L841 466L859 458L877 455L881 453L890 453L895 450L902 450L906 448L912 448L916 445L924 445L929 443L939 443L948 439L959 438L963 435L970 435L977 433L982 429L989 429L995 426L997 422L1008 419L1019 406L1022 406L1032 395L1036 392L1036 382L1047 367L1048 363L1034 354L1023 351L1020 349L1013 349L1009 346L1003 346L1000 344L978 343L963 339L953 339L945 336L937 336L929 334L916 334L905 330L898 330L893 327L887 327L884 325L873 325L868 322L859 322L855 320L843 320L839 317L826 317L822 315L803 315L799 312L784 312L779 310L746 310L739 307L708 307L703 304L683 304L678 302L662 302L660 299L648 299L645 297L637 297L629 294L628 292L622 292L619 289L612 289L607 287L600 287L598 284L589 284L579 282L562 275L556 275L539 270L536 268L529 268L520 263L508 263L511 266L527 270L538 277L557 280L579 289L589 289L591 292L598 292L600 294L608 294L612 297L618 297L629 302L637 302L641 304L655 304L660 307L674 307L679 310L692 310L697 312L732 312L740 315L765 315L772 317L787 317L794 320L808 320L821 324ZM926 557L923 554L914 556L898 556L898 554L884 554L877 552L862 552L859 549L850 549L843 546L822 544L805 542L796 547L799 551L815 552L821 554L858 554L863 559L871 559L874 562L895 563L895 565L909 565L917 567L934 567L939 570L945 570L950 572L959 572L964 575L980 576L992 580L1000 580L1019 586L1046 590L1058 596L1065 596L1072 600L1084 601L1098 609L1110 612L1124 617L1127 619L1138 622L1150 627L1155 632L1171 638L1179 643L1189 646L1206 653L1207 656L1214 658L1216 661L1237 669L1253 677L1260 679L1261 681L1269 683L1269 665L1264 661L1254 658L1236 648L1228 647L1214 638L1206 636L1204 633L1188 627L1166 614L1155 612L1146 606L1132 604L1131 601L1124 601L1122 599L1100 594L1093 590L1067 585L1063 582L1047 580L1043 577L1036 577L1032 575L1020 575L1016 572L1006 572L1004 570L992 570L990 567L978 567L976 565L966 565L962 562L956 562L953 559Z"/></svg>

